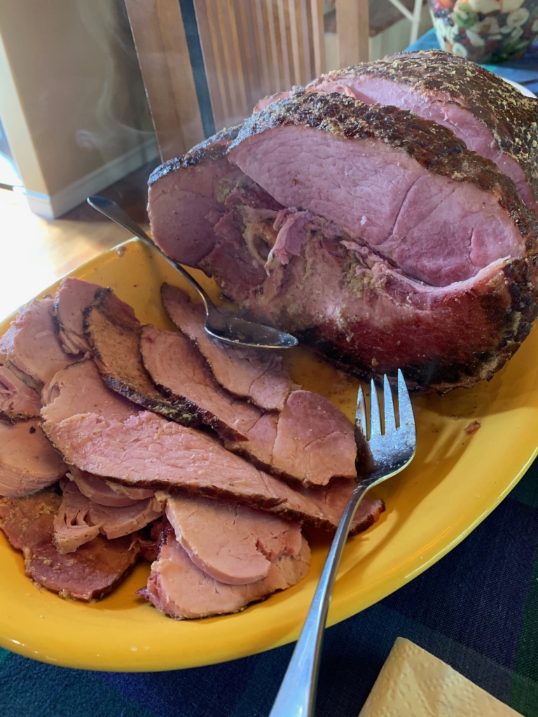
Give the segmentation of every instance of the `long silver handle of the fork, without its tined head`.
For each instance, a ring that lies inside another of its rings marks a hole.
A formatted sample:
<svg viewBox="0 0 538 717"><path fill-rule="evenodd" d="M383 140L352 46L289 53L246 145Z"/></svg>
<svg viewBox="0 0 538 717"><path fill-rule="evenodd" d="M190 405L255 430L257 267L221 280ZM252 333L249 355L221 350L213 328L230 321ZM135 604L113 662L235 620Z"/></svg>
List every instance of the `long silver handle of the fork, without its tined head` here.
<svg viewBox="0 0 538 717"><path fill-rule="evenodd" d="M346 544L351 521L364 493L371 487L371 485L357 485L344 508L303 630L301 630L301 635L299 635L295 650L293 650L288 670L286 670L269 717L313 717L316 707L321 643L323 642L336 571Z"/></svg>

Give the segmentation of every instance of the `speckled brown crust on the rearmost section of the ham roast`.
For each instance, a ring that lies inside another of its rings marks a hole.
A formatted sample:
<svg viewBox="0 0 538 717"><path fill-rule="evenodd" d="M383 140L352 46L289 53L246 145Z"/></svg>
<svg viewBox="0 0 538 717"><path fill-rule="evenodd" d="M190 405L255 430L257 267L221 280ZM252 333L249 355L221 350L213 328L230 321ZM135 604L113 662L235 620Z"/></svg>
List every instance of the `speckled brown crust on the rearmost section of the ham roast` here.
<svg viewBox="0 0 538 717"><path fill-rule="evenodd" d="M534 196L538 197L536 100L522 96L515 87L480 65L440 50L400 52L376 62L334 70L324 78L338 81L357 75L410 85L425 94L446 92L489 128L502 151L522 166Z"/></svg>

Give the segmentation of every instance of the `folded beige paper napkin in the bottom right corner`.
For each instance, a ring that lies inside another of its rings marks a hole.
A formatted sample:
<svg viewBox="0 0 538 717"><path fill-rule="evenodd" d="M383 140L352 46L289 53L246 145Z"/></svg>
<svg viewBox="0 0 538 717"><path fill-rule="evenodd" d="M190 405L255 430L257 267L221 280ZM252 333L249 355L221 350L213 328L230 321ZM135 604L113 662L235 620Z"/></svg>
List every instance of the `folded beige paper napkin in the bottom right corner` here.
<svg viewBox="0 0 538 717"><path fill-rule="evenodd" d="M522 717L413 642L398 637L359 717Z"/></svg>

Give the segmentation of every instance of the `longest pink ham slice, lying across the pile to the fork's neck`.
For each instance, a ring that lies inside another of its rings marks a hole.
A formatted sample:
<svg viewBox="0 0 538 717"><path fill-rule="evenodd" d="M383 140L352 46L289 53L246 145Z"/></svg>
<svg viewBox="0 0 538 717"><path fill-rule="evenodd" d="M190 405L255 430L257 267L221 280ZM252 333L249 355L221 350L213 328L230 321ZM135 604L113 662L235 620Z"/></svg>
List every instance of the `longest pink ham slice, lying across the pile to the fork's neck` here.
<svg viewBox="0 0 538 717"><path fill-rule="evenodd" d="M354 481L330 487L291 488L225 450L208 435L143 412L126 420L75 414L46 422L49 440L70 465L138 488L164 488L250 505L292 521L334 531ZM365 530L384 510L365 498L353 532Z"/></svg>

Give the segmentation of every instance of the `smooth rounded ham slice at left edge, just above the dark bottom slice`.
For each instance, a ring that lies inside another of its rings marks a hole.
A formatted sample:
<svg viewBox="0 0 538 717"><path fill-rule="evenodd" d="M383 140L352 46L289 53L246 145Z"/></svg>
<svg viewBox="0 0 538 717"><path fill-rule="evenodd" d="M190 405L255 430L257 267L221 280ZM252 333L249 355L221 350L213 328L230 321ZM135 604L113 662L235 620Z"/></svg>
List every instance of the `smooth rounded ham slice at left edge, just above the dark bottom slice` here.
<svg viewBox="0 0 538 717"><path fill-rule="evenodd" d="M0 422L0 495L35 493L56 483L67 466L36 420Z"/></svg>

